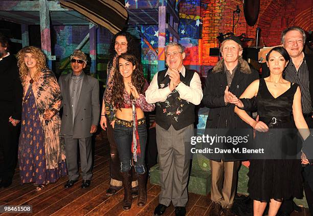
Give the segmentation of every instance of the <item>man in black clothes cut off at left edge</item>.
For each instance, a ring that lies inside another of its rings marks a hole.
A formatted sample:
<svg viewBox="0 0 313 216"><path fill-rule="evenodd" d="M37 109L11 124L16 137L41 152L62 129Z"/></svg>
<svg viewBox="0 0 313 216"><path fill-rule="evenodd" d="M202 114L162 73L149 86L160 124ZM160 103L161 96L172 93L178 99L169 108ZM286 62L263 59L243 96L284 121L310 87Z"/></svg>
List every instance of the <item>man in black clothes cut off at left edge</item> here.
<svg viewBox="0 0 313 216"><path fill-rule="evenodd" d="M0 149L4 163L0 164L1 187L9 187L16 167L18 129L21 118L23 89L16 59L8 52L8 39L0 33Z"/></svg>

